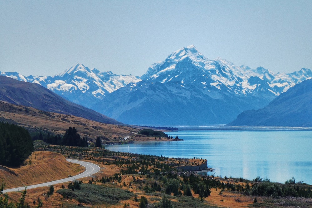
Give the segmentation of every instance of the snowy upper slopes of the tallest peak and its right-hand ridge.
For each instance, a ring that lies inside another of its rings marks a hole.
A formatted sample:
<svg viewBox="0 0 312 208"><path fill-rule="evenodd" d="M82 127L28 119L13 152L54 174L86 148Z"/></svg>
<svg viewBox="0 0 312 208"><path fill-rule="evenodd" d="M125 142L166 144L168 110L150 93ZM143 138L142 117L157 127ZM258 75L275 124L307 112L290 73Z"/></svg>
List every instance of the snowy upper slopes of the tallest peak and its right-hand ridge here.
<svg viewBox="0 0 312 208"><path fill-rule="evenodd" d="M141 79L149 80L152 84L182 83L182 87L199 84L197 89L209 93L211 90L225 89L244 96L259 92L276 96L311 77L312 72L308 69L292 74L275 74L263 67L251 69L246 65L236 66L220 57L209 60L194 45L190 45L174 51L163 62L151 65Z"/></svg>

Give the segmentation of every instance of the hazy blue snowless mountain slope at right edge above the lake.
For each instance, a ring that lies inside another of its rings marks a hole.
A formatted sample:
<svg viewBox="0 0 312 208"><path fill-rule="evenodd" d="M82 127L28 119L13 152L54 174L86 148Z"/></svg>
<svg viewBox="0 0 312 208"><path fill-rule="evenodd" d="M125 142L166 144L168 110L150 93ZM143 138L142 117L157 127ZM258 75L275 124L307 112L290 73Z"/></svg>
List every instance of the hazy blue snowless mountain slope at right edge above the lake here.
<svg viewBox="0 0 312 208"><path fill-rule="evenodd" d="M312 127L312 80L295 85L265 108L242 112L229 125Z"/></svg>

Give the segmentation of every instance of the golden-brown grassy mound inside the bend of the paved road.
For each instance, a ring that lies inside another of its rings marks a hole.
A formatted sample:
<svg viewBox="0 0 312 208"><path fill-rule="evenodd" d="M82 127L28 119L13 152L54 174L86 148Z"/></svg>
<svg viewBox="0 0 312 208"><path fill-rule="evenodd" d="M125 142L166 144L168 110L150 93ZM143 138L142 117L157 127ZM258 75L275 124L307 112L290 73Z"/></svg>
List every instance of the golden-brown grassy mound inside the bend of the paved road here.
<svg viewBox="0 0 312 208"><path fill-rule="evenodd" d="M78 164L67 162L64 156L56 152L33 152L25 163L19 168L0 166L0 178L6 185L5 189L54 181L85 170Z"/></svg>

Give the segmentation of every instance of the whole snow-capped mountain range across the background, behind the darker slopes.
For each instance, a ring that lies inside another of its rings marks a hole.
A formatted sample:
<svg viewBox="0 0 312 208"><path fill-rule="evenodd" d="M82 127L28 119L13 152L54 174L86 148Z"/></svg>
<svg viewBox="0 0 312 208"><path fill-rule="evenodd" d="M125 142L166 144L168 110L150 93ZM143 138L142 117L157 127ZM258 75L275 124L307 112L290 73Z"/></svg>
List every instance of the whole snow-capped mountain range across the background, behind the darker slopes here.
<svg viewBox="0 0 312 208"><path fill-rule="evenodd" d="M225 124L260 109L312 78L310 69L284 74L209 60L195 46L174 51L141 77L100 72L77 64L55 76L2 72L37 83L64 98L128 124Z"/></svg>

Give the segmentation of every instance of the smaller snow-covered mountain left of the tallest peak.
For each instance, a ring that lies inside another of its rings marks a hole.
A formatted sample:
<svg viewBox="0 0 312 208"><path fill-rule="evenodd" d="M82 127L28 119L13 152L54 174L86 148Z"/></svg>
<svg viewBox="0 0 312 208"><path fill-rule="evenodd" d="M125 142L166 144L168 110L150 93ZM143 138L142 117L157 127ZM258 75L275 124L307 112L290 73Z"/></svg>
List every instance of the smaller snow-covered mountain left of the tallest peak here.
<svg viewBox="0 0 312 208"><path fill-rule="evenodd" d="M32 82L42 85L64 98L90 108L90 104L103 99L120 87L129 83L140 81L133 75L116 75L111 71L100 72L93 68L89 69L82 64L77 64L65 72L55 76L28 76L25 77L17 72L1 72L20 81Z"/></svg>

